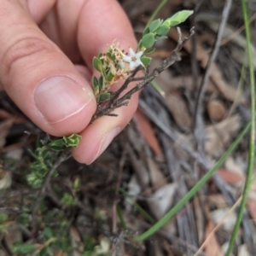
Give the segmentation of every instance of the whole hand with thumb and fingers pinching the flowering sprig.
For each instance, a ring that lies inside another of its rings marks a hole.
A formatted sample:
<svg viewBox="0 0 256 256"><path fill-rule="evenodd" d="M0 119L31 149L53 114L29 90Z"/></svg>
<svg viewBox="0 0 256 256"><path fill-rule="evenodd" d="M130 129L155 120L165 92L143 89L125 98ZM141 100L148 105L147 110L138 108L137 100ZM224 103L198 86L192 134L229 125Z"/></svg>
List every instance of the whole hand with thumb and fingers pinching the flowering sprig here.
<svg viewBox="0 0 256 256"><path fill-rule="evenodd" d="M90 85L91 77L97 76L93 56L114 40L125 51L137 46L119 3L0 0L0 24L3 90L43 131L58 137L82 135L79 147L73 148L76 160L96 160L137 108L135 95L128 107L115 111L118 117L104 116L89 125L96 111Z"/></svg>

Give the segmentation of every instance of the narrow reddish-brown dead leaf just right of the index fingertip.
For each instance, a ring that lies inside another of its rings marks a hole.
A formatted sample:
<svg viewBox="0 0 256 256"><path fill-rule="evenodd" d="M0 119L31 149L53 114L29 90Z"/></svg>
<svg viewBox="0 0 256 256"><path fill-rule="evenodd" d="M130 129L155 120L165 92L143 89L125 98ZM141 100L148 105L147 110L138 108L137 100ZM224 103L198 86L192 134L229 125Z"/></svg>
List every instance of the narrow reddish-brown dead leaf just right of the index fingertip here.
<svg viewBox="0 0 256 256"><path fill-rule="evenodd" d="M148 117L143 113L141 109L137 109L134 120L137 124L138 130L148 143L148 146L153 149L154 153L162 160L164 158L160 144L155 137L154 129L148 120Z"/></svg>

